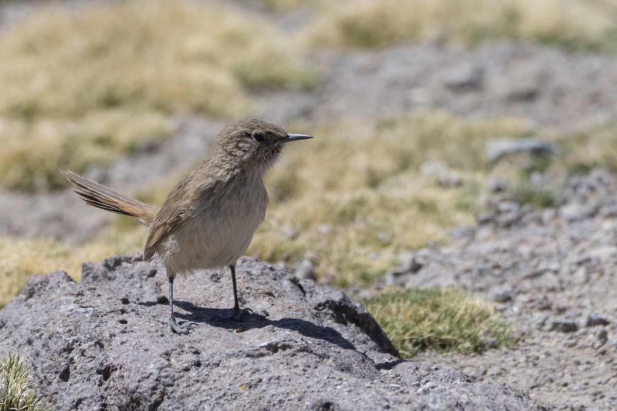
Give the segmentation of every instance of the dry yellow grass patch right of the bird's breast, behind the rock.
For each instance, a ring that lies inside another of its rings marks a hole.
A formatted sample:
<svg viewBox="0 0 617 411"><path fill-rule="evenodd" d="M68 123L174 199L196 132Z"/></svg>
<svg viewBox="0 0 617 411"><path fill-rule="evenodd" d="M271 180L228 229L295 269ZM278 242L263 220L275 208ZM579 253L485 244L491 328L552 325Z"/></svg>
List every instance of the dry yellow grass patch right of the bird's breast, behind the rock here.
<svg viewBox="0 0 617 411"><path fill-rule="evenodd" d="M528 171L521 173L517 161L489 165L487 140L540 132L515 118L426 113L292 129L316 138L289 147L268 174L271 207L249 253L270 261L289 255L292 262L310 254L317 257L318 275L339 287L371 282L397 264L401 251L446 241L447 228L474 224L491 174L520 181L521 190L526 188L521 201L549 206L555 197L551 187L528 184ZM574 136L543 137L562 154L542 166L615 169L614 123ZM421 172L426 163L439 162L462 185L442 187L436 175Z"/></svg>

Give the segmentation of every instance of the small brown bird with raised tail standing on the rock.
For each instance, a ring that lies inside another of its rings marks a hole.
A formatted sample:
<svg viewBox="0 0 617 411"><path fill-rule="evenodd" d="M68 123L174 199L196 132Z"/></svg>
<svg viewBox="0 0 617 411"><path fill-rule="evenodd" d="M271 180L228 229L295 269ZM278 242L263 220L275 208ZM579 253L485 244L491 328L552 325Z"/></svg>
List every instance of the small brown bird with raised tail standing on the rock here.
<svg viewBox="0 0 617 411"><path fill-rule="evenodd" d="M173 187L163 205L149 205L72 171L60 170L89 205L138 219L149 229L144 259L158 253L169 282L170 333L187 334L173 315L173 280L179 274L228 266L231 269L233 319L241 319L236 261L248 248L265 217L268 193L263 176L286 143L310 139L290 134L265 120L240 120L218 134L209 155Z"/></svg>

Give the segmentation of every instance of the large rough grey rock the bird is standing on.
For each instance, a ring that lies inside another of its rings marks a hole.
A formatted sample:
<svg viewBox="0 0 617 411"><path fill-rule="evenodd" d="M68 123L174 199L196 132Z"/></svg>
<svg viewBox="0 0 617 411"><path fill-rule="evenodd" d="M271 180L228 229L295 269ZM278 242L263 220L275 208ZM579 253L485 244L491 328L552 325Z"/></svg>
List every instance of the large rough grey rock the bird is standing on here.
<svg viewBox="0 0 617 411"><path fill-rule="evenodd" d="M141 254L32 277L0 311L0 354L18 351L59 410L542 410L505 385L402 360L365 307L278 266L238 264L242 322L224 271L176 280L168 335L160 261ZM217 317L218 316L218 317Z"/></svg>

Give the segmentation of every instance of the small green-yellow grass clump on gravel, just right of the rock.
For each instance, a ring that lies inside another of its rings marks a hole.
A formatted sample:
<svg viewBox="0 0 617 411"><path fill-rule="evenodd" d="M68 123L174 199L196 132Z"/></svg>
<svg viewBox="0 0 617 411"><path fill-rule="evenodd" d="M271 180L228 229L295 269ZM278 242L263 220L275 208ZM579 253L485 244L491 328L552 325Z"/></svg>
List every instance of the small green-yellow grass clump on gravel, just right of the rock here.
<svg viewBox="0 0 617 411"><path fill-rule="evenodd" d="M481 352L515 343L494 307L455 288L384 291L363 301L403 357L424 349Z"/></svg>

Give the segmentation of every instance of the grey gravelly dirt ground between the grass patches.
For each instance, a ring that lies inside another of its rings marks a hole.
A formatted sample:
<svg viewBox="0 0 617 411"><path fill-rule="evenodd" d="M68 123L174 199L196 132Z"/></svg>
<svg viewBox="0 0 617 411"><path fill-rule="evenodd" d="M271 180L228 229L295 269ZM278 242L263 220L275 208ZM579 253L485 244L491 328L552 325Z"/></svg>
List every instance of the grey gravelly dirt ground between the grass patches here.
<svg viewBox="0 0 617 411"><path fill-rule="evenodd" d="M40 4L0 2L0 33ZM560 132L617 113L613 57L502 43L321 51L307 59L323 70L320 86L257 93L262 118L286 123L440 109L479 118L523 116ZM214 136L221 124L179 120L174 137L160 147L120 158L93 176L123 190L148 187L207 152L202 136ZM195 150L184 150L187 144ZM129 169L149 173L128 181ZM477 227L453 230L451 245L418 251L420 271L394 279L400 287L455 285L494 301L515 324L519 343L482 355L423 352L417 359L507 383L553 409L617 409L617 176L597 170L538 178L558 187L555 208L534 210L507 192L495 193L494 213ZM68 190L0 193L0 233L81 242L109 216L73 207L77 203Z"/></svg>

